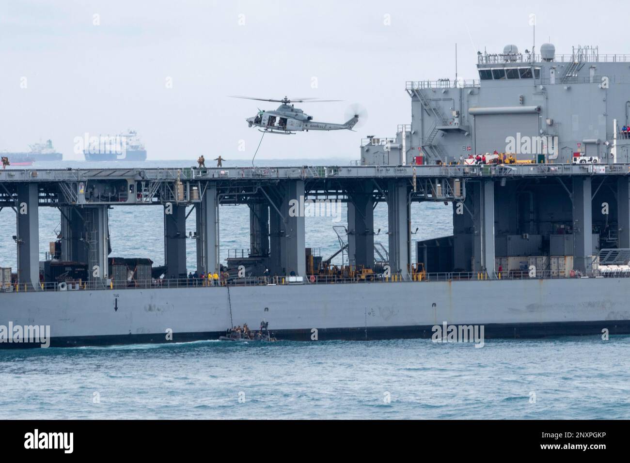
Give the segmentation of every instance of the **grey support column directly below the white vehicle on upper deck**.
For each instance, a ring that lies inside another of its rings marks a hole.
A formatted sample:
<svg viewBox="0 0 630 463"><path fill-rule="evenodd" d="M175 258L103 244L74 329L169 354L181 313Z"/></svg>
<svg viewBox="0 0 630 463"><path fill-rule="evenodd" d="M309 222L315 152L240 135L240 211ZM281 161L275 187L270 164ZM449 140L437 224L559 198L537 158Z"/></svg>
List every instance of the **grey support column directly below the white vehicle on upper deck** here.
<svg viewBox="0 0 630 463"><path fill-rule="evenodd" d="M590 177L573 177L573 268L590 272L593 254L593 210Z"/></svg>

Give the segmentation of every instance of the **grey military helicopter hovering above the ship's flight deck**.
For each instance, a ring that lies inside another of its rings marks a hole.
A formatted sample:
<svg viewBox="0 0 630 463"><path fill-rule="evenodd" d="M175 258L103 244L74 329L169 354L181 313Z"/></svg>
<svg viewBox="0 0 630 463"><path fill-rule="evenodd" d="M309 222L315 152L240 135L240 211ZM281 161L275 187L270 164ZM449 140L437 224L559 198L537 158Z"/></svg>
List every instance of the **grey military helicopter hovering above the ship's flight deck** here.
<svg viewBox="0 0 630 463"><path fill-rule="evenodd" d="M258 109L258 114L254 117L248 117L246 119L249 127L260 127L260 132L270 132L272 134L294 135L295 132L301 132L306 130L352 130L357 125L359 118L361 117L361 111L358 108L351 108L353 112L350 114L352 117L347 122L331 123L331 122L315 122L312 120L312 116L309 116L299 108L295 108L292 103L324 103L328 101L341 101L341 100L318 100L317 98L293 98L289 99L287 96L282 100L275 100L273 98L252 98L249 96L232 96L232 98L244 98L245 100L258 100L258 101L276 101L282 103L275 111L265 111ZM354 130L352 130L354 132Z"/></svg>

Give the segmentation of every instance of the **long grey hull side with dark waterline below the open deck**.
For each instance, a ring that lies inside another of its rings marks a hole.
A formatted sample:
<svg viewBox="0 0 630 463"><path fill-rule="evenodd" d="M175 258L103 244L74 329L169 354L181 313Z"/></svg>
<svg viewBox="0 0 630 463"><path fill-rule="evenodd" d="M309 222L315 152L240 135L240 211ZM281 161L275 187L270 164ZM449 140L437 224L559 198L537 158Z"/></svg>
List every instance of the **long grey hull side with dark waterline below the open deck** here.
<svg viewBox="0 0 630 463"><path fill-rule="evenodd" d="M216 340L263 320L305 341L429 338L444 322L485 338L630 334L629 297L625 278L8 293L0 324L50 326L53 346Z"/></svg>

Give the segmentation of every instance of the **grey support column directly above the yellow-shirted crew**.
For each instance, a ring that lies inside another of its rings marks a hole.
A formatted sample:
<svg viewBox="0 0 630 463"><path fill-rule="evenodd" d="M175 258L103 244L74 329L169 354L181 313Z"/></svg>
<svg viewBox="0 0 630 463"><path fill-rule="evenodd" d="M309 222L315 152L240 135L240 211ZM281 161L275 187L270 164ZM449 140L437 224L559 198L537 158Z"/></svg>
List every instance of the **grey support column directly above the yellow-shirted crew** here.
<svg viewBox="0 0 630 463"><path fill-rule="evenodd" d="M205 193L203 193L201 201L195 205L197 273L199 275L202 273L219 272L217 207L217 187L208 186ZM186 251L184 249L184 254L185 253Z"/></svg>

